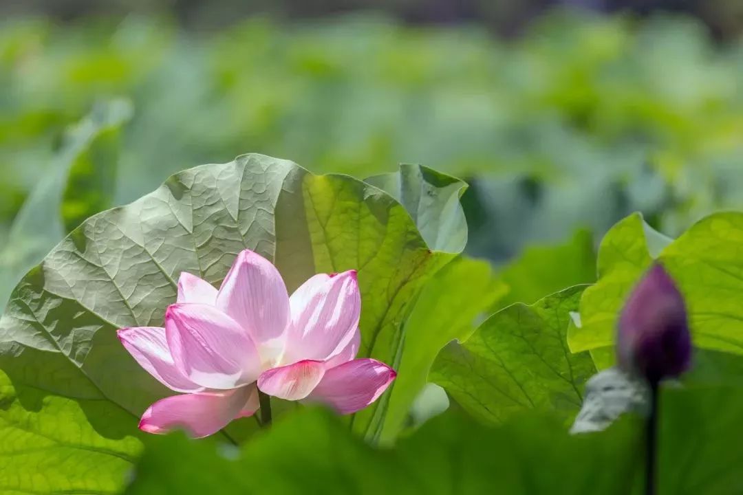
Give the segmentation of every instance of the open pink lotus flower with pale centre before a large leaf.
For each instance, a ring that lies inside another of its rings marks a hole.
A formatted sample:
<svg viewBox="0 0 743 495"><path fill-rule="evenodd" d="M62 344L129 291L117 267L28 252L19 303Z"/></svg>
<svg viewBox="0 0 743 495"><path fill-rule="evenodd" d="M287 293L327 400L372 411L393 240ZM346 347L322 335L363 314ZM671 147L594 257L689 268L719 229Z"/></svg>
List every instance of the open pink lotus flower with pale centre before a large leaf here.
<svg viewBox="0 0 743 495"><path fill-rule="evenodd" d="M291 297L276 267L247 249L219 290L181 273L165 328L118 331L140 366L182 393L152 404L140 429L182 427L208 436L255 413L258 390L343 414L363 409L396 373L380 361L355 359L360 310L355 270L314 275Z"/></svg>

